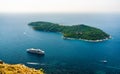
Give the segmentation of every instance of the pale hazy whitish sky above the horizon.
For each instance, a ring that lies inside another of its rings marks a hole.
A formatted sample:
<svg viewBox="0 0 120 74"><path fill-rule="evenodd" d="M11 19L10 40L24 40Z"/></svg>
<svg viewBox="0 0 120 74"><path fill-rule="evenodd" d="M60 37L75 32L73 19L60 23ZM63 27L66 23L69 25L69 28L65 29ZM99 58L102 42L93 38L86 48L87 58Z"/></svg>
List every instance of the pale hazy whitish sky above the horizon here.
<svg viewBox="0 0 120 74"><path fill-rule="evenodd" d="M0 13L120 13L120 0L0 0Z"/></svg>

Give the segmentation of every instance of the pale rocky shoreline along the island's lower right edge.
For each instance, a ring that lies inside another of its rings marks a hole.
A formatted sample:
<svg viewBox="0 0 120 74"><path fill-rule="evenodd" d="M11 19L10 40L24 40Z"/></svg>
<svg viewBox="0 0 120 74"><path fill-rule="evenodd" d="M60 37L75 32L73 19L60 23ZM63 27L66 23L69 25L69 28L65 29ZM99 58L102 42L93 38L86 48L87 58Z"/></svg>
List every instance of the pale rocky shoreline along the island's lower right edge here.
<svg viewBox="0 0 120 74"><path fill-rule="evenodd" d="M86 42L103 42L103 41L111 39L112 37L109 36L108 38L100 39L100 40L76 39L76 38L69 38L69 37L64 37L64 36L62 36L62 38L63 39L68 39L68 40L82 40L82 41L86 41Z"/></svg>

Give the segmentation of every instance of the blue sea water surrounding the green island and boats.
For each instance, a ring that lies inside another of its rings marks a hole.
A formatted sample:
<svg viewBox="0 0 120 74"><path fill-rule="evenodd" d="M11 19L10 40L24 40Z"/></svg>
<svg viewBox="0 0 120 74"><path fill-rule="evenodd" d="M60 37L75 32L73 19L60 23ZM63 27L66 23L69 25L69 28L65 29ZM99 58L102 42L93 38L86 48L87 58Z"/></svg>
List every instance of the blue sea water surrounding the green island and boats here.
<svg viewBox="0 0 120 74"><path fill-rule="evenodd" d="M0 14L0 59L10 64L43 68L47 74L119 74L119 19L120 14ZM59 33L33 30L28 23L34 21L86 24L102 29L112 39L99 43L64 40ZM28 48L43 49L45 56L28 54Z"/></svg>

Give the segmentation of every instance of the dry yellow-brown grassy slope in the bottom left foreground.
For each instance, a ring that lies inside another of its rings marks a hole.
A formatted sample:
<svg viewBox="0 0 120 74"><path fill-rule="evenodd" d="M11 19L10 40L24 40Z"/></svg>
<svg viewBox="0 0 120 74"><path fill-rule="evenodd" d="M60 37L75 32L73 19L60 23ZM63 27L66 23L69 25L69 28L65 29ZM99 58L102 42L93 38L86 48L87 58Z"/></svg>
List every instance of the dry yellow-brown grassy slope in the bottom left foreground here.
<svg viewBox="0 0 120 74"><path fill-rule="evenodd" d="M41 70L28 68L22 64L0 64L0 74L44 74Z"/></svg>

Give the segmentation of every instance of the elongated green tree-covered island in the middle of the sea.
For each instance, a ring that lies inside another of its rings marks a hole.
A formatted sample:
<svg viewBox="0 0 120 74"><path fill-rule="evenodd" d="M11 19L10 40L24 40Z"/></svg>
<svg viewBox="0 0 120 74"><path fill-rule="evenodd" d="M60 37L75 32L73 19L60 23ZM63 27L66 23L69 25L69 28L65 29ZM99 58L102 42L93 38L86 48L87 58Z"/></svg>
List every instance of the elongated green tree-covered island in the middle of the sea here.
<svg viewBox="0 0 120 74"><path fill-rule="evenodd" d="M100 42L110 38L110 35L101 29L84 24L65 26L51 22L31 22L28 24L34 30L45 32L60 32L64 39L80 39L91 42Z"/></svg>

